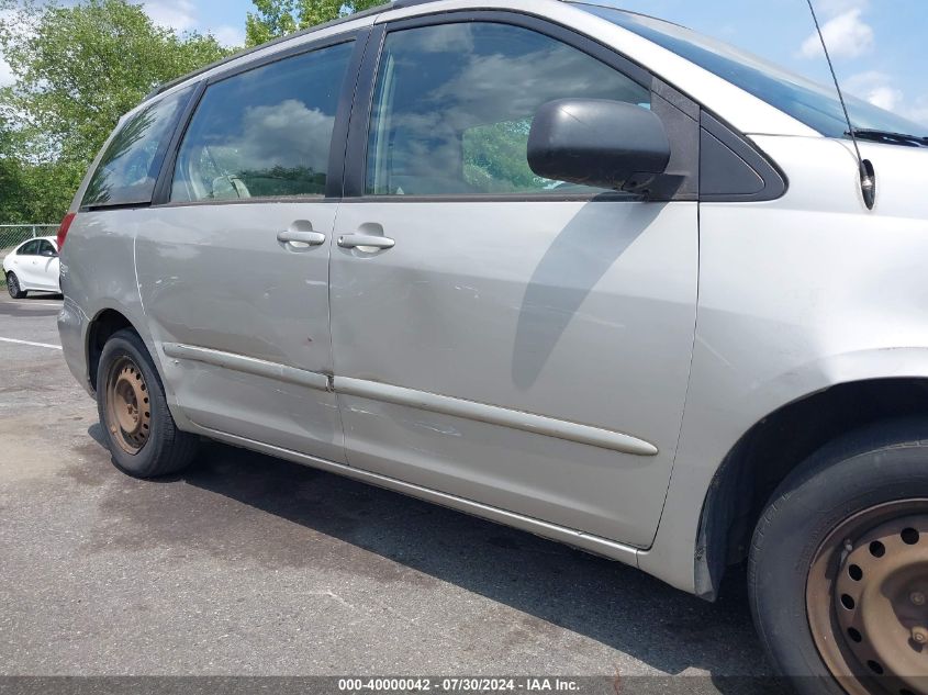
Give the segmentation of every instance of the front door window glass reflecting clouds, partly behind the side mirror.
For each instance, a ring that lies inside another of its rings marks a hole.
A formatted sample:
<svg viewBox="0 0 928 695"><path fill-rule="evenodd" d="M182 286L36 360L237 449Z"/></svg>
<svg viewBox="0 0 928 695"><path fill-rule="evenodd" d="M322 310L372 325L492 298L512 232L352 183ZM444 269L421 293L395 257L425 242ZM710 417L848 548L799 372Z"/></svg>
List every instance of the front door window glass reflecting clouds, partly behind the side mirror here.
<svg viewBox="0 0 928 695"><path fill-rule="evenodd" d="M401 31L388 37L387 51L393 74L379 76L376 103L383 94L392 103L376 112L371 131L387 139L370 149L389 157L372 169L378 180L369 188L379 193L543 190L549 182L526 160L528 126L541 104L570 97L650 102L648 89L595 58L510 25Z"/></svg>

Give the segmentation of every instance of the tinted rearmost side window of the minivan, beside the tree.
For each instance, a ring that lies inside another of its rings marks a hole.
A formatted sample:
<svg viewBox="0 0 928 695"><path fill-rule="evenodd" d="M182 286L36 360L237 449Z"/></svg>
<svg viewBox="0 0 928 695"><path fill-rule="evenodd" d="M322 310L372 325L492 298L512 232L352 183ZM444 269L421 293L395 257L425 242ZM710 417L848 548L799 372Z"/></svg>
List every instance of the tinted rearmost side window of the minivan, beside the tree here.
<svg viewBox="0 0 928 695"><path fill-rule="evenodd" d="M193 87L145 105L123 123L93 172L85 208L152 202L155 181Z"/></svg>

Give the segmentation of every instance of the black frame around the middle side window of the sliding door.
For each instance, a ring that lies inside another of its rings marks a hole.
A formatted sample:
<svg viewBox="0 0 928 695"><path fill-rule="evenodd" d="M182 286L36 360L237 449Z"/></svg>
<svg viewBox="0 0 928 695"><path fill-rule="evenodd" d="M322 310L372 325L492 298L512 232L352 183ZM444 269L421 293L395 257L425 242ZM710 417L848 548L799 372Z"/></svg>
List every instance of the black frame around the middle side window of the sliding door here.
<svg viewBox="0 0 928 695"><path fill-rule="evenodd" d="M152 198L153 208L187 208L191 205L249 205L262 203L282 203L282 202L332 202L342 198L343 172L345 167L345 143L348 137L348 119L351 112L351 104L355 98L355 90L359 79L361 68L361 60L365 55L365 49L371 33L369 26L354 29L339 34L333 34L318 38L316 41L306 42L297 46L291 46L284 51L264 56L260 59L253 60L245 65L236 66L202 79L197 87L194 97L190 100L189 108L185 111L180 120L180 125L170 141L168 156L161 164L161 170L158 176L158 181L155 184L155 194ZM187 134L190 123L193 121L193 115L200 107L203 94L206 89L228 78L266 67L273 63L292 58L294 56L331 48L340 44L353 43L354 47L351 56L348 58L348 66L345 71L345 79L342 83L342 89L338 94L338 105L335 111L335 126L332 132L332 144L328 150L328 171L326 171L325 194L324 195L269 195L262 198L246 198L233 200L194 200L194 201L171 201L170 192L174 184L175 167L177 165L177 156L180 152L180 145Z"/></svg>

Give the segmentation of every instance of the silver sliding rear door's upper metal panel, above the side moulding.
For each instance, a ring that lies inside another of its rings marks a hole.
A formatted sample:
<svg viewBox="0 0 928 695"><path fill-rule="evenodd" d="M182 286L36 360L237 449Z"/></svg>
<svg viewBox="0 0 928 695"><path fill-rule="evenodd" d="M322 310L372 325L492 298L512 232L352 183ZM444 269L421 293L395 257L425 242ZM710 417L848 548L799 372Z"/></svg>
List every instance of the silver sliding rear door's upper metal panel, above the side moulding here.
<svg viewBox="0 0 928 695"><path fill-rule="evenodd" d="M311 330L328 326L328 246L294 253L277 234L305 217L328 231L334 205L189 205L153 216L138 238L138 281L156 339L328 369L328 335Z"/></svg>

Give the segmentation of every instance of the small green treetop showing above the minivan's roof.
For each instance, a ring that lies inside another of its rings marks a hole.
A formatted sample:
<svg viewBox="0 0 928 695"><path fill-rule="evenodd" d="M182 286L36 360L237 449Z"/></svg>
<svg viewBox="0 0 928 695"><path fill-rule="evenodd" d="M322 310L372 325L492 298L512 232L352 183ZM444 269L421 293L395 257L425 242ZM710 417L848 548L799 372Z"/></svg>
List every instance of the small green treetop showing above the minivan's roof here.
<svg viewBox="0 0 928 695"><path fill-rule="evenodd" d="M251 0L255 12L245 21L245 43L257 46L300 29L367 10L384 0Z"/></svg>

